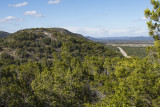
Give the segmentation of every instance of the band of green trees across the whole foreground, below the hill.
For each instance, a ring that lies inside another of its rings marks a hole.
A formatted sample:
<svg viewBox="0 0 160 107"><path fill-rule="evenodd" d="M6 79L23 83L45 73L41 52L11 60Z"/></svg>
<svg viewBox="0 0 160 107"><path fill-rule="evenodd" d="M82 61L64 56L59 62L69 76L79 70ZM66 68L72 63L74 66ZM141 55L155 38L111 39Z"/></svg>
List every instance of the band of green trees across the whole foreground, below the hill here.
<svg viewBox="0 0 160 107"><path fill-rule="evenodd" d="M159 47L153 48L159 50ZM81 61L63 49L60 54L54 53L51 66L28 62L3 67L0 104L158 107L159 68L155 54L143 60L87 55Z"/></svg>

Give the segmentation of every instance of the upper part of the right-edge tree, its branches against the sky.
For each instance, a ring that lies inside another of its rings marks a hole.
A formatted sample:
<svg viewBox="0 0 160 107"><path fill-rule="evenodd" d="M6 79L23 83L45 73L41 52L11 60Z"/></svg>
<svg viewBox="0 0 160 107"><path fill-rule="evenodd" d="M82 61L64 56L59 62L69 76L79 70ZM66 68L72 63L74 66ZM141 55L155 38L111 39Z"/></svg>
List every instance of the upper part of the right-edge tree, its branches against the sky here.
<svg viewBox="0 0 160 107"><path fill-rule="evenodd" d="M151 4L153 5L152 11L149 8L144 11L145 17L149 19L147 22L149 35L155 40L160 40L160 2L151 0Z"/></svg>

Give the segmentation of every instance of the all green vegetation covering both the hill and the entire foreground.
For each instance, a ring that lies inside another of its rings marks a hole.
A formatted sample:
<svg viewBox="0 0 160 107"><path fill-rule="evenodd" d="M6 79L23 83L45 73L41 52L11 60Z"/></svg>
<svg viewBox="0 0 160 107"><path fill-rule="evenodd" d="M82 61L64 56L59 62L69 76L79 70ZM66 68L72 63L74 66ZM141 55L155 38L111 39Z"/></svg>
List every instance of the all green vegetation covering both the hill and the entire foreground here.
<svg viewBox="0 0 160 107"><path fill-rule="evenodd" d="M43 35L47 31L54 36ZM160 41L144 59L123 58L81 35L60 31L29 29L25 36L19 31L2 40L8 53L0 60L0 106L160 106Z"/></svg>

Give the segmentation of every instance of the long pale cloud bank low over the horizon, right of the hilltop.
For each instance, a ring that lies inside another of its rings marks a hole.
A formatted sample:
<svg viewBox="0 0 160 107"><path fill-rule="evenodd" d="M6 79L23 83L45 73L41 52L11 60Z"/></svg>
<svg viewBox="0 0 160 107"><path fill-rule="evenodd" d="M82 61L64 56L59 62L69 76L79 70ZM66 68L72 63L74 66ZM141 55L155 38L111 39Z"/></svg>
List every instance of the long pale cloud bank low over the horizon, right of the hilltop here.
<svg viewBox="0 0 160 107"><path fill-rule="evenodd" d="M92 37L119 37L119 36L148 36L147 28L120 28L120 29L108 29L108 28L80 28L80 27L65 27L74 33L79 33L84 36Z"/></svg>

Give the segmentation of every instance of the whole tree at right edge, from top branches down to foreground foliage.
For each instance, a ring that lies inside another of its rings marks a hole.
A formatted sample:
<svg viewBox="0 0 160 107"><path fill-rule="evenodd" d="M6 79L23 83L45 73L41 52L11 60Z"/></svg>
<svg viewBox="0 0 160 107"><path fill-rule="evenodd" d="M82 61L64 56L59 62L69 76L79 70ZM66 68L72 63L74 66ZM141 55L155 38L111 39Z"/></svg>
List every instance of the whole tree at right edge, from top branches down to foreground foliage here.
<svg viewBox="0 0 160 107"><path fill-rule="evenodd" d="M147 26L149 29L149 35L155 40L154 46L149 47L149 56L152 58L153 62L158 61L160 58L160 1L151 0L153 9L147 8L144 11L145 17L149 20Z"/></svg>

